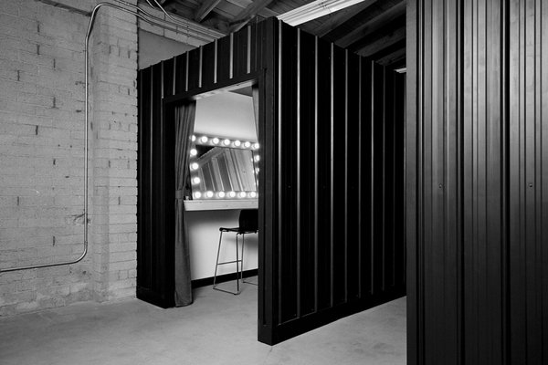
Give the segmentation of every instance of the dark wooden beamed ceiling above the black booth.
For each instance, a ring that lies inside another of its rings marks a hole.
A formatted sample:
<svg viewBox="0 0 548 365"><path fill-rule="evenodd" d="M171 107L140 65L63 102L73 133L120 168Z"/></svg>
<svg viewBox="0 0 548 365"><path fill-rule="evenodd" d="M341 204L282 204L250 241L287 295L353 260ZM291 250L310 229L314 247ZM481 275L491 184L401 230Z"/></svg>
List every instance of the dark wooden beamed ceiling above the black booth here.
<svg viewBox="0 0 548 365"><path fill-rule="evenodd" d="M165 10L223 33L279 16L311 0L162 0ZM406 0L364 0L299 26L377 62L406 65Z"/></svg>

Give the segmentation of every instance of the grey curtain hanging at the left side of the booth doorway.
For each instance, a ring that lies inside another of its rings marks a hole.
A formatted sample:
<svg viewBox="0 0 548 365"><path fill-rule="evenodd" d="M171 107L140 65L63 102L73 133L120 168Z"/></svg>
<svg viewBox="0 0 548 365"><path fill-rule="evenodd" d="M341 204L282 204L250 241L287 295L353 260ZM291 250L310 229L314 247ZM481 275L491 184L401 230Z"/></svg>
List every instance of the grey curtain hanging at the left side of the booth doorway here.
<svg viewBox="0 0 548 365"><path fill-rule="evenodd" d="M192 304L190 250L184 217L184 183L188 174L188 154L192 143L196 102L175 109L175 306Z"/></svg>

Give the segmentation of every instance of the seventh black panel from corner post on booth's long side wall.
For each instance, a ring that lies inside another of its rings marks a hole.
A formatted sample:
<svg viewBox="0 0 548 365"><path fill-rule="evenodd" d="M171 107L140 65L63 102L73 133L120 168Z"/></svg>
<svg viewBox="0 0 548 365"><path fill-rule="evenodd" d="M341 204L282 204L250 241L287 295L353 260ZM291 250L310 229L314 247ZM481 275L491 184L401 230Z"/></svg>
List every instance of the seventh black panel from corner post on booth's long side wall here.
<svg viewBox="0 0 548 365"><path fill-rule="evenodd" d="M372 80L372 180L373 189L371 191L372 219L372 243L371 243L371 291L373 295L383 290L383 267L384 267L384 200L385 200L385 175L384 175L384 156L385 156L385 68L371 63Z"/></svg>

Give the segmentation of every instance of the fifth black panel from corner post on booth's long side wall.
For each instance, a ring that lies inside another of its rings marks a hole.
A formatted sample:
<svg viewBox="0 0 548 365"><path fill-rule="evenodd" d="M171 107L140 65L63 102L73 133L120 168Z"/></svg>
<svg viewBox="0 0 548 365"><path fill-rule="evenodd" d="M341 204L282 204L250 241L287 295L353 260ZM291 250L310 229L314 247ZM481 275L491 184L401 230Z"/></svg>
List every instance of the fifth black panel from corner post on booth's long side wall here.
<svg viewBox="0 0 548 365"><path fill-rule="evenodd" d="M360 222L360 57L353 53L348 54L346 65L346 180L347 180L347 294L348 300L356 299L359 295L359 283L361 272L362 241ZM357 76L357 77L356 77ZM363 146L362 146L363 147ZM368 269L365 266L364 269Z"/></svg>

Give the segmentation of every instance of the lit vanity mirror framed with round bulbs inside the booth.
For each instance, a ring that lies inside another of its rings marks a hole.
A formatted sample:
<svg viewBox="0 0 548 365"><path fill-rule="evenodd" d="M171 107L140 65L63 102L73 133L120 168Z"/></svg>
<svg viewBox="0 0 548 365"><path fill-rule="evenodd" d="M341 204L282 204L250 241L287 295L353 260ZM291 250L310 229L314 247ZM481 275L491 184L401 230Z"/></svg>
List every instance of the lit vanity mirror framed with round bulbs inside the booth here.
<svg viewBox="0 0 548 365"><path fill-rule="evenodd" d="M190 184L193 200L258 197L258 143L192 136Z"/></svg>

